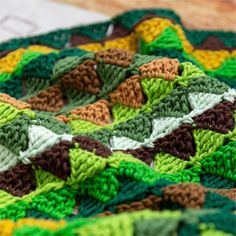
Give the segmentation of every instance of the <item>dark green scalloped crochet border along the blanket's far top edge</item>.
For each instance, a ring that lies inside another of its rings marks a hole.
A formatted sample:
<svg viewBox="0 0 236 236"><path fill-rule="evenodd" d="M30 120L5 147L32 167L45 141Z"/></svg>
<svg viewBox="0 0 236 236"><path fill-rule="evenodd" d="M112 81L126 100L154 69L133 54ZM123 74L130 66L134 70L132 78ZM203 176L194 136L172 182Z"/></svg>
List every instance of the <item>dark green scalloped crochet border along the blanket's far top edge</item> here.
<svg viewBox="0 0 236 236"><path fill-rule="evenodd" d="M218 37L228 47L236 47L236 34L234 32L223 31L203 31L203 30L187 30L182 25L181 20L175 12L168 9L141 9L133 10L114 17L111 21L106 21L99 24L91 24L88 26L78 26L71 29L61 29L50 32L48 34L38 35L36 37L28 37L21 39L13 39L0 44L0 51L15 50L24 48L31 44L47 45L49 47L61 49L65 48L72 35L87 36L92 40L101 40L106 37L107 29L110 24L121 25L126 29L131 29L137 24L144 15L156 15L173 20L180 24L187 38L193 45L200 45L207 37ZM197 37L196 37L197 35Z"/></svg>

